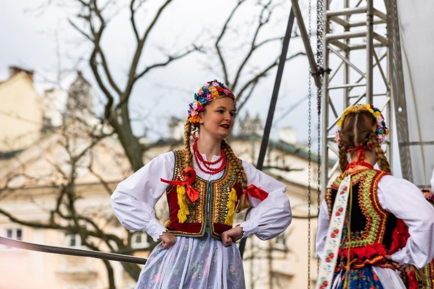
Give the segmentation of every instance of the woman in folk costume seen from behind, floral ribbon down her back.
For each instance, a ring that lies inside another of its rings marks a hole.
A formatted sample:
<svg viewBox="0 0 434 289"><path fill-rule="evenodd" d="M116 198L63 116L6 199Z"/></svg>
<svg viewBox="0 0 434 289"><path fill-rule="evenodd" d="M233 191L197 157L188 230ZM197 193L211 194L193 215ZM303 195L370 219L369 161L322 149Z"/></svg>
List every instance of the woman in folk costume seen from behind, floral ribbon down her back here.
<svg viewBox="0 0 434 289"><path fill-rule="evenodd" d="M381 111L370 104L350 106L338 126L343 173L319 212L316 288L405 288L395 269L421 268L434 257L434 208L415 185L390 175L381 148L389 132ZM405 246L399 246L397 219L409 228Z"/></svg>

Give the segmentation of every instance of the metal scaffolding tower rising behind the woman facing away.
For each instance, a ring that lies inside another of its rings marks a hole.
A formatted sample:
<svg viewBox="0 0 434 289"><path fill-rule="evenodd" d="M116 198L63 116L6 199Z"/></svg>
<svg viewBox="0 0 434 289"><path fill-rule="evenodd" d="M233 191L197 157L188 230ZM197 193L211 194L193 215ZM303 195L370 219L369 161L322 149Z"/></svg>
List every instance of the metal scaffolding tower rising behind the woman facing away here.
<svg viewBox="0 0 434 289"><path fill-rule="evenodd" d="M336 123L343 110L357 103L373 103L382 110L389 128L392 125L391 48L392 26L388 13L391 3L373 0L323 0L323 75L322 83L322 160L337 159L332 170L321 164L321 190L339 168L335 143ZM397 31L397 30L396 30ZM399 37L394 33L394 37ZM398 38L399 40L399 38ZM399 49L399 47L398 47ZM396 68L396 65L393 66ZM393 81L396 84L395 81ZM391 130L393 131L393 130ZM392 167L392 135L384 147Z"/></svg>

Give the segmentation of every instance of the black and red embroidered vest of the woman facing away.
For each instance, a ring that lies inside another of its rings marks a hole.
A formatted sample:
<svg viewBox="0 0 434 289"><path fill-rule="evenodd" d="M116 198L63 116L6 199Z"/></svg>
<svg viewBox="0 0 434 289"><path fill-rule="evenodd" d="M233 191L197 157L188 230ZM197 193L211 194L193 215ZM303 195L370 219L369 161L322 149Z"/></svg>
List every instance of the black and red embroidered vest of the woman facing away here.
<svg viewBox="0 0 434 289"><path fill-rule="evenodd" d="M393 268L384 255L392 253L389 249L396 227L396 217L379 205L377 197L378 181L384 175L387 173L373 169L351 172L350 238L344 241L339 249L336 271L347 269L348 250L351 268L359 269L374 264L378 267ZM329 217L342 180L343 175L339 176L325 193ZM345 237L347 236L348 233L345 233Z"/></svg>

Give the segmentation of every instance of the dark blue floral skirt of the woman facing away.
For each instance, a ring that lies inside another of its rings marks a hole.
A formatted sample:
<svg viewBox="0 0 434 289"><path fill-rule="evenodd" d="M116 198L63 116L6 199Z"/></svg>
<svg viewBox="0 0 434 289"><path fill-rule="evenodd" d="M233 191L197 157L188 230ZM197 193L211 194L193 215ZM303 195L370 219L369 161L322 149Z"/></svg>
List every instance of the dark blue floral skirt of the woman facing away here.
<svg viewBox="0 0 434 289"><path fill-rule="evenodd" d="M345 278L349 279L345 282ZM383 287L371 266L366 266L362 269L350 269L348 276L346 276L346 271L337 273L333 282L333 288L343 289L345 283L348 283L347 288L351 289L387 289Z"/></svg>

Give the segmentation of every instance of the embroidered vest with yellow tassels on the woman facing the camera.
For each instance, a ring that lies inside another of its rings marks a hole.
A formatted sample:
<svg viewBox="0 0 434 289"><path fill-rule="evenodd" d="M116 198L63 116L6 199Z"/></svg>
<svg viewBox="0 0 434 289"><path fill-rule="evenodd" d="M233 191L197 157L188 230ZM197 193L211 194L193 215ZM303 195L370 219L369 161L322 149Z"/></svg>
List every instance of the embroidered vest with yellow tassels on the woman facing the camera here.
<svg viewBox="0 0 434 289"><path fill-rule="evenodd" d="M185 150L176 150L174 154L175 169L173 180L184 181L182 170L184 167ZM182 223L178 220L180 206L178 204L176 186L170 185L167 188L166 193L169 205L169 224L167 229L175 236L201 237L205 234L205 228L208 225L211 236L221 240L220 234L232 228L232 218L229 218L229 222L227 218L230 211L228 208L230 192L232 189L236 192L235 204L232 204L235 207L241 196L241 190L238 188L236 182L235 169L230 162L227 162L226 169L220 179L206 181L196 177L193 187L199 191L199 198L194 201L193 206L188 207L186 220Z"/></svg>

